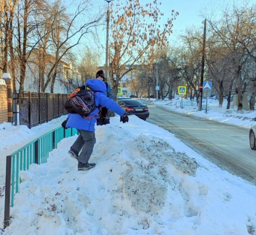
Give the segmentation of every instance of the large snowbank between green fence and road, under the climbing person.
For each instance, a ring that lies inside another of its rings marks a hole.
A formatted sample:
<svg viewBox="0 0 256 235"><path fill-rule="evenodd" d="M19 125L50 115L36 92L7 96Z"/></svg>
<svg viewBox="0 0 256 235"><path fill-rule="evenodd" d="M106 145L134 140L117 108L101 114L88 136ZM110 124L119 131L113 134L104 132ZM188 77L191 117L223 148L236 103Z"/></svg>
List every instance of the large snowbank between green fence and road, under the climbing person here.
<svg viewBox="0 0 256 235"><path fill-rule="evenodd" d="M0 234L255 234L256 187L167 130L136 116L124 124L112 117L96 127L89 161L96 166L85 172L67 153L76 137L21 173L11 225Z"/></svg>

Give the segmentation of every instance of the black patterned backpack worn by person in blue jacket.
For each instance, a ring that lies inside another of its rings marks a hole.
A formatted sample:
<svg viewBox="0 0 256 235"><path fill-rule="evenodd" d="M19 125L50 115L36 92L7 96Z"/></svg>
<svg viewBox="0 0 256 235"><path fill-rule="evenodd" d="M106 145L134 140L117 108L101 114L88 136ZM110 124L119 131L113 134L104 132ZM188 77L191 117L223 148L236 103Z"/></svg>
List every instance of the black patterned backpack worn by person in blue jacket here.
<svg viewBox="0 0 256 235"><path fill-rule="evenodd" d="M77 87L64 104L69 113L78 113L86 118L90 112L94 111L94 92L85 85Z"/></svg>

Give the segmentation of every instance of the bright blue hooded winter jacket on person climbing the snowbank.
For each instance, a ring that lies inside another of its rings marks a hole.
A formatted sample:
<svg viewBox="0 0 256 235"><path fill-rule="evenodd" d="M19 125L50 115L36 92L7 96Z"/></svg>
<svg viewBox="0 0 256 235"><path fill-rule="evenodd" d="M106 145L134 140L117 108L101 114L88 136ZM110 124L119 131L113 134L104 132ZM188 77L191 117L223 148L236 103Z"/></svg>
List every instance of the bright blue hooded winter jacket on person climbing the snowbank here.
<svg viewBox="0 0 256 235"><path fill-rule="evenodd" d="M104 106L120 116L122 116L125 113L125 111L114 100L108 98L105 95L106 85L103 81L99 79L89 79L86 81L85 85L94 91L94 100L96 106ZM99 108L96 107L95 110L87 116L91 118L84 118L78 113L69 113L66 127L74 127L77 129L83 129L94 132L94 125L96 122L96 118L98 118L98 112Z"/></svg>

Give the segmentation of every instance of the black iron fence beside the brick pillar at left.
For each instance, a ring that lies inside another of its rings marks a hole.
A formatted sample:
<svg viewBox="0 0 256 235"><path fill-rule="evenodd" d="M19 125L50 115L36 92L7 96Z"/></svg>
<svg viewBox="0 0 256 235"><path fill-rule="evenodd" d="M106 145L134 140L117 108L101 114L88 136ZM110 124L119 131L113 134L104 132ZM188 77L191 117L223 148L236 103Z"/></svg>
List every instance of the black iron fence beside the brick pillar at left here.
<svg viewBox="0 0 256 235"><path fill-rule="evenodd" d="M20 125L32 128L68 113L64 108L68 94L20 91L18 95Z"/></svg>

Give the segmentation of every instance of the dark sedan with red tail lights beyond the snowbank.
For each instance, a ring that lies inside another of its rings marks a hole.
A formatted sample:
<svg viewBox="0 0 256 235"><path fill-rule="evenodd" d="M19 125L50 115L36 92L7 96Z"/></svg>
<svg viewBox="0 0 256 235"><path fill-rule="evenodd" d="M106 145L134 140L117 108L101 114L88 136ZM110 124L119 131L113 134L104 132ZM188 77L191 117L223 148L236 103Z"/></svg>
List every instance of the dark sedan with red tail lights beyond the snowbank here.
<svg viewBox="0 0 256 235"><path fill-rule="evenodd" d="M123 99L118 100L119 104L127 113L127 115L136 115L143 120L149 117L149 108L146 104L136 99Z"/></svg>

